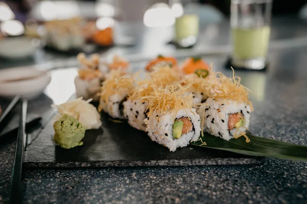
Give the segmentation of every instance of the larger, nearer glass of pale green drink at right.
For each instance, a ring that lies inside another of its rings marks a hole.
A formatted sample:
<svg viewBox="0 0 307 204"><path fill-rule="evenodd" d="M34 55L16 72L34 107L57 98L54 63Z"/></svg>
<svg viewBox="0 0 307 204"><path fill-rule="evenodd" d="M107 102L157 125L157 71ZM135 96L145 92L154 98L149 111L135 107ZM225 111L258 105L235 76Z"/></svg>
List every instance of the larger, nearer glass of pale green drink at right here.
<svg viewBox="0 0 307 204"><path fill-rule="evenodd" d="M264 69L272 0L231 0L232 60L236 68Z"/></svg>

